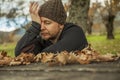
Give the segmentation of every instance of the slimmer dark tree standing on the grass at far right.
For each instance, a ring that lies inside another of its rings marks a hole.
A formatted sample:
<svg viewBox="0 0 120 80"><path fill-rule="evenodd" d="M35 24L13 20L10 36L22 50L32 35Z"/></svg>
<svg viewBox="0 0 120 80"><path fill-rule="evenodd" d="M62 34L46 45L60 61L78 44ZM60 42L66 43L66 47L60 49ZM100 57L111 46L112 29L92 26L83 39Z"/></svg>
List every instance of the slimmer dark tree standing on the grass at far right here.
<svg viewBox="0 0 120 80"><path fill-rule="evenodd" d="M114 19L115 15L118 11L120 11L120 0L106 0L106 9L108 11L108 17L105 19L105 26L107 30L107 39L114 39L113 31L114 31Z"/></svg>

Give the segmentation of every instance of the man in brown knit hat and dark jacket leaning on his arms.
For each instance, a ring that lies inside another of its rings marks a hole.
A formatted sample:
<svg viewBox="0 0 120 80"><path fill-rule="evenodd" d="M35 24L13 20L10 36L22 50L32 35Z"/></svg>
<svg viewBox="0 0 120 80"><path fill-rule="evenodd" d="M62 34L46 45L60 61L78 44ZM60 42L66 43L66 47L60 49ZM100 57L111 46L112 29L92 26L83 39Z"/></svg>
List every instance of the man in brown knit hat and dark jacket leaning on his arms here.
<svg viewBox="0 0 120 80"><path fill-rule="evenodd" d="M40 8L40 9L39 9ZM43 5L30 4L32 25L17 43L15 56L21 52L61 52L85 48L88 43L83 30L66 23L66 12L61 0L48 0Z"/></svg>

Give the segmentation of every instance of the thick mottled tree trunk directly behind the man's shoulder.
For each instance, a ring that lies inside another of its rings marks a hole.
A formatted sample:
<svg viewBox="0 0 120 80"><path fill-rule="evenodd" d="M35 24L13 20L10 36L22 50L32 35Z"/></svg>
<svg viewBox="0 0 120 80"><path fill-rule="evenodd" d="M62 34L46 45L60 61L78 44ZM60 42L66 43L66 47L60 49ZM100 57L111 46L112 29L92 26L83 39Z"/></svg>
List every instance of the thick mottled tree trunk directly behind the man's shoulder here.
<svg viewBox="0 0 120 80"><path fill-rule="evenodd" d="M87 18L90 0L71 0L68 22L75 23L87 31Z"/></svg>

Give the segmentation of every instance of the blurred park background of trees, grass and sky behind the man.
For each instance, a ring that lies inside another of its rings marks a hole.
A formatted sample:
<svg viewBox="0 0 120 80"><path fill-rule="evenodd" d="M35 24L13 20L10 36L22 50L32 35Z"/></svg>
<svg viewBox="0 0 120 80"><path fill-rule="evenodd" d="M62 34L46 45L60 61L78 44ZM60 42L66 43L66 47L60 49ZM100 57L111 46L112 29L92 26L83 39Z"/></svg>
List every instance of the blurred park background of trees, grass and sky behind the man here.
<svg viewBox="0 0 120 80"><path fill-rule="evenodd" d="M30 1L0 0L0 51L14 57L17 41L30 27ZM62 0L67 22L78 24L101 54L120 53L120 0Z"/></svg>

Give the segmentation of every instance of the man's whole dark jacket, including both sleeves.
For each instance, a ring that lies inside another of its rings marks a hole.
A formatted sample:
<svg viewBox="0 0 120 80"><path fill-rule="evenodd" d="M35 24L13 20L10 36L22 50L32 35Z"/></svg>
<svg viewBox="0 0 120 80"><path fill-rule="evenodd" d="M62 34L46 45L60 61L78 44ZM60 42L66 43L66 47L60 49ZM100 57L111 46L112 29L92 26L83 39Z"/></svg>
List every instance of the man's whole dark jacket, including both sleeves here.
<svg viewBox="0 0 120 80"><path fill-rule="evenodd" d="M66 23L63 31L55 44L50 41L41 39L40 24L32 22L31 27L26 31L24 36L19 40L15 48L15 56L21 52L34 53L40 52L61 52L61 51L76 51L85 48L88 43L83 30L72 23Z"/></svg>

